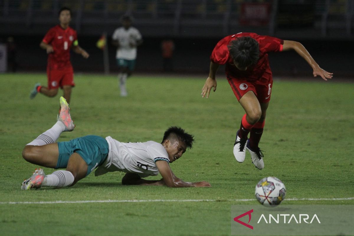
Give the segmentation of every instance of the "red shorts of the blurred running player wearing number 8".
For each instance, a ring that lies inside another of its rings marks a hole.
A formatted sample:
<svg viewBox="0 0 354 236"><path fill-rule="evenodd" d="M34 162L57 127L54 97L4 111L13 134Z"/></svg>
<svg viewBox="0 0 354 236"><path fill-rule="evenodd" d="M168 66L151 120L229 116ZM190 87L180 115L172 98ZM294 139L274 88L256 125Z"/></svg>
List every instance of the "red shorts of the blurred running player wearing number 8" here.
<svg viewBox="0 0 354 236"><path fill-rule="evenodd" d="M47 77L49 89L56 89L59 86L63 88L65 85L75 86L72 66L59 69L47 67Z"/></svg>

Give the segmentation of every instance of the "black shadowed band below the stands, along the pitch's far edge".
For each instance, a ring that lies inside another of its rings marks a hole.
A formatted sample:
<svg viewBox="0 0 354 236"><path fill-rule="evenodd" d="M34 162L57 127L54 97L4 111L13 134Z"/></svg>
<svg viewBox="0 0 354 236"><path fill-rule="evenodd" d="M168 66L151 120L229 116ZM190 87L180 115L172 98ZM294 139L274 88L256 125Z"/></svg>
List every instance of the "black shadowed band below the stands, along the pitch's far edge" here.
<svg viewBox="0 0 354 236"><path fill-rule="evenodd" d="M17 62L19 71L45 71L47 54L39 47L42 40L38 36L13 36L17 46ZM72 64L76 72L103 72L103 51L96 47L99 37L79 35L79 44L90 54L83 59L72 52ZM136 71L162 71L161 40L164 38L144 38L138 47ZM219 38L175 39L173 56L174 71L180 73L205 73L209 71L210 54ZM288 39L296 40L296 39ZM315 61L325 70L337 76L354 74L354 44L346 40L298 40L310 52ZM115 63L115 47L108 42L110 71L117 71ZM269 53L270 67L274 75L304 75L312 70L304 59L293 51ZM222 68L220 69L222 70Z"/></svg>

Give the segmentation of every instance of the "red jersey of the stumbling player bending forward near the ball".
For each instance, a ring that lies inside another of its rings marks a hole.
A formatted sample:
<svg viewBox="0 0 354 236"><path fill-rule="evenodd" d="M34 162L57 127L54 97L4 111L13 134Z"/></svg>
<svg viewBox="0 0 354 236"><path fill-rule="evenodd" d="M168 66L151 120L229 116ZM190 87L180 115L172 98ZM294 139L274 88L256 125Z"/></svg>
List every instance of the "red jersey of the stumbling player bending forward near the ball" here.
<svg viewBox="0 0 354 236"><path fill-rule="evenodd" d="M257 64L251 65L247 70L242 71L235 67L234 61L227 46L230 41L239 37L249 36L259 44L259 60ZM272 79L272 71L269 67L268 52L280 52L283 49L284 41L278 38L258 35L255 33L238 33L226 36L220 40L211 53L210 59L213 63L224 65L227 77L238 80L246 80L255 84L265 85ZM263 76L267 72L270 76Z"/></svg>

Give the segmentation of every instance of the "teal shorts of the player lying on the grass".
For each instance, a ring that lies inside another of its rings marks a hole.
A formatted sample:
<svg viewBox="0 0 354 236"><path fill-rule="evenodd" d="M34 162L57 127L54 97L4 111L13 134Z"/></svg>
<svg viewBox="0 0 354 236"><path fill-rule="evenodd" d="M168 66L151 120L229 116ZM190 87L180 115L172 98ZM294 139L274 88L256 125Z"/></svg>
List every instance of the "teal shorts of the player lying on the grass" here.
<svg viewBox="0 0 354 236"><path fill-rule="evenodd" d="M68 142L58 142L58 149L59 157L55 169L66 168L69 157L76 152L88 165L86 176L103 164L109 152L107 141L95 135L75 138Z"/></svg>

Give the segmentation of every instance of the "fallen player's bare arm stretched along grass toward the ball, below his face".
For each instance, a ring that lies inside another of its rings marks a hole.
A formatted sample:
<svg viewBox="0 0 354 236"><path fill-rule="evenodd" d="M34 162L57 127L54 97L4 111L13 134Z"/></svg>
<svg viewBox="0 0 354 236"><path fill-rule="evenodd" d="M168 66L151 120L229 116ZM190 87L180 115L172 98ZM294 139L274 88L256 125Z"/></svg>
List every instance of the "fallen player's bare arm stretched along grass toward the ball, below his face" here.
<svg viewBox="0 0 354 236"><path fill-rule="evenodd" d="M171 167L167 161L156 161L156 166L162 176L162 180L165 182L167 187L170 188L183 188L183 187L211 187L208 182L184 182L182 179L176 177L173 174Z"/></svg>

